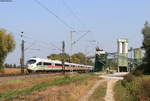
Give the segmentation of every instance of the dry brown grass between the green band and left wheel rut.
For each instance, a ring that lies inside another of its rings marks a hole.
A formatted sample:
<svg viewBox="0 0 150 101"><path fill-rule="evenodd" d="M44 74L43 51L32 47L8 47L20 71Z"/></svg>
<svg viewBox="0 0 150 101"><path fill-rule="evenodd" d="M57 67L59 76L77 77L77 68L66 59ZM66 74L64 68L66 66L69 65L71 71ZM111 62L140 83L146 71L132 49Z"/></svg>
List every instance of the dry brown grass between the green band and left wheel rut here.
<svg viewBox="0 0 150 101"><path fill-rule="evenodd" d="M78 101L97 81L97 75L90 75L62 85L49 86L30 94L16 96L13 101Z"/></svg>

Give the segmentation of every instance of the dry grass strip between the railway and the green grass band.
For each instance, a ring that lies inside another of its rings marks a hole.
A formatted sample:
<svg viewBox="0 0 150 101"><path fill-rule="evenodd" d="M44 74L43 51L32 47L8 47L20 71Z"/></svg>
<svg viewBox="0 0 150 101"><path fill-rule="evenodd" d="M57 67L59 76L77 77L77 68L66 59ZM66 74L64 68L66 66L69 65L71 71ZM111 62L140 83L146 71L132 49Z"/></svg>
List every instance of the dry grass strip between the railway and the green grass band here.
<svg viewBox="0 0 150 101"><path fill-rule="evenodd" d="M25 87L31 87L43 82L52 81L56 78L62 77L61 75L30 75L28 77L15 77L16 79L11 80L11 77L7 77L7 81L1 80L0 83L0 94L10 90L21 89ZM4 78L5 79L5 78Z"/></svg>

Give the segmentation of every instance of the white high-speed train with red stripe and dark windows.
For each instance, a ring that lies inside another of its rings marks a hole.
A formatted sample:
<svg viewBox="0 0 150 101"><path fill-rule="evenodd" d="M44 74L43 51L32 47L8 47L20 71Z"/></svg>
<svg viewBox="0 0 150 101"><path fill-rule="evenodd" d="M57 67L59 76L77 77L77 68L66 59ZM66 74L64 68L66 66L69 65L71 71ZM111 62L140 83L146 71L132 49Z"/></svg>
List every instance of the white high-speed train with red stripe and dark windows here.
<svg viewBox="0 0 150 101"><path fill-rule="evenodd" d="M36 71L93 71L94 67L89 65L81 65L75 63L64 63L64 68L62 62L58 60L41 59L41 58L31 58L27 61L28 72Z"/></svg>

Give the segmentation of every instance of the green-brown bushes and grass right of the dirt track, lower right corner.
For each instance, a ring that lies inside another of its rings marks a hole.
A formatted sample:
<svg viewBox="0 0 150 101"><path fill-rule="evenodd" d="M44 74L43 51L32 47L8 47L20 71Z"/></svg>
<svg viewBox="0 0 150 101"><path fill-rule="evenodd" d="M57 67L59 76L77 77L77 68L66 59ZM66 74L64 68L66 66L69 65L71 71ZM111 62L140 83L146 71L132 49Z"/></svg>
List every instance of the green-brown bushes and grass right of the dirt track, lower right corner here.
<svg viewBox="0 0 150 101"><path fill-rule="evenodd" d="M128 74L114 88L116 101L150 101L150 76Z"/></svg>

